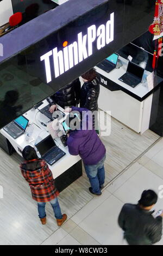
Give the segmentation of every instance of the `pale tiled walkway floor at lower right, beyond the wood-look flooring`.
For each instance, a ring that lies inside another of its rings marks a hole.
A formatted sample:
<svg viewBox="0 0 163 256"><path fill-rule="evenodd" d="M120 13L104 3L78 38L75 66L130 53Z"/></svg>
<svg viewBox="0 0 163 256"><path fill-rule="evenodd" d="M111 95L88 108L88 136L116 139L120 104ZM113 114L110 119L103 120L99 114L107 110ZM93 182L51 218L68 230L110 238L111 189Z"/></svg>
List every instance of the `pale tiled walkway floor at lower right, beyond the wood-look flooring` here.
<svg viewBox="0 0 163 256"><path fill-rule="evenodd" d="M104 188L101 197L93 197L43 244L127 245L117 224L118 214L124 203L137 203L144 189L159 193L159 186L163 185L162 159L163 138ZM158 200L154 209L163 209L163 199ZM163 245L163 238L158 245Z"/></svg>

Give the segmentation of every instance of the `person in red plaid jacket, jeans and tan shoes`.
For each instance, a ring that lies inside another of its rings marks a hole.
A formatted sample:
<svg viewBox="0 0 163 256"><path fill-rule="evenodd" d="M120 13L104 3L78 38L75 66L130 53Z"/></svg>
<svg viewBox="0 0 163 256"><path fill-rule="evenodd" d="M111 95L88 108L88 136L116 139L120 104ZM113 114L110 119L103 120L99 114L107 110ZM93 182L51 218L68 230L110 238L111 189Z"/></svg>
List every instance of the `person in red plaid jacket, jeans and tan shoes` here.
<svg viewBox="0 0 163 256"><path fill-rule="evenodd" d="M35 149L31 146L24 147L22 156L25 162L20 165L20 169L23 177L29 183L32 198L37 201L41 223L46 224L45 205L49 201L53 207L57 224L60 226L66 221L67 215L61 214L57 199L59 192L55 188L51 170L43 159L37 157Z"/></svg>

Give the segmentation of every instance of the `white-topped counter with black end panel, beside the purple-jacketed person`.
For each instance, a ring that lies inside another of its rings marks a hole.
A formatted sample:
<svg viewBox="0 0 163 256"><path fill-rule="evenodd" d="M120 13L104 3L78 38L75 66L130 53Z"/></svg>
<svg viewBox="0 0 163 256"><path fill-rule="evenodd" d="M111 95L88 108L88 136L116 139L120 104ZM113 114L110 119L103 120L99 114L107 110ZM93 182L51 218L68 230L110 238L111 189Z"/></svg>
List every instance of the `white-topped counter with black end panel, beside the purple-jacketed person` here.
<svg viewBox="0 0 163 256"><path fill-rule="evenodd" d="M47 100L44 100L43 104L39 107L39 109L42 109L47 104ZM63 109L61 109L59 106L58 109L63 111ZM12 147L15 148L16 152L20 154L20 156L22 156L21 152L25 146L30 145L34 147L35 143L39 142L40 140L46 138L49 135L47 127L42 126L41 124L41 122L49 122L49 118L41 114L39 110L33 108L23 115L29 120L29 124L34 123L35 129L31 138L34 140L26 140L28 127L26 129L26 133L22 134L17 139L12 138L7 132L5 132L4 129L0 130L1 136L3 135L7 139L7 141L10 142ZM55 143L61 148L61 150L66 153L65 156L60 158L55 164L53 164L52 166L49 165L49 169L51 169L53 177L55 178L56 186L58 190L61 191L69 186L73 181L77 180L77 178L82 176L82 160L79 155L70 155L68 152L68 147L64 147L59 138L55 140ZM5 149L3 145L0 146Z"/></svg>

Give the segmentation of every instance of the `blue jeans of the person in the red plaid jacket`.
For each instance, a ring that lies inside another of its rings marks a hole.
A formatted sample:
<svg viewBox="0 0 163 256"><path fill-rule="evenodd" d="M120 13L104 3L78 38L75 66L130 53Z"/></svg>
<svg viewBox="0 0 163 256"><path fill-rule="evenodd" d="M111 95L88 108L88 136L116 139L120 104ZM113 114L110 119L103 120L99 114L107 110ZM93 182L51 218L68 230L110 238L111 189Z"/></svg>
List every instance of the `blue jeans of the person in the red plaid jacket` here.
<svg viewBox="0 0 163 256"><path fill-rule="evenodd" d="M52 201L50 201L50 203L52 205L55 218L61 219L62 218L62 214L61 214L60 206L59 206L59 203L58 203L58 199L54 198ZM45 205L46 205L46 203L37 202L38 211L39 211L39 218L40 219L46 217Z"/></svg>

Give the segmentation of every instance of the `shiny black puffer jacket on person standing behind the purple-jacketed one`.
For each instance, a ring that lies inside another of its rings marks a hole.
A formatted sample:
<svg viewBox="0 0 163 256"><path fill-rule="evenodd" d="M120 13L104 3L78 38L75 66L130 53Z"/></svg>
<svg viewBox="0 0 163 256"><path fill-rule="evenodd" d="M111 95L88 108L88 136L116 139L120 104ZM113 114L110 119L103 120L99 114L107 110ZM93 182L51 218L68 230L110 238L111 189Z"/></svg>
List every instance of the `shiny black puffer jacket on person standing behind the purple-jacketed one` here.
<svg viewBox="0 0 163 256"><path fill-rule="evenodd" d="M97 75L91 82L84 82L81 89L80 108L86 108L91 111L98 110L100 81L100 76Z"/></svg>

